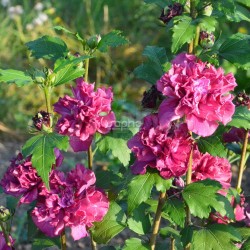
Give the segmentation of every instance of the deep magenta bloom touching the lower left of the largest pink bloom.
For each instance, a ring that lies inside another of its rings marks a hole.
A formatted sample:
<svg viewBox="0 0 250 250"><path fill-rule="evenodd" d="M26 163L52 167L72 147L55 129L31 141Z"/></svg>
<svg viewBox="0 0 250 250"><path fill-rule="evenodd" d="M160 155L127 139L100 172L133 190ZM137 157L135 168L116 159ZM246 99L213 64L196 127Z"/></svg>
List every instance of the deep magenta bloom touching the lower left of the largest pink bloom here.
<svg viewBox="0 0 250 250"><path fill-rule="evenodd" d="M192 148L187 126L162 129L159 119L158 114L146 116L140 131L128 141L128 147L137 157L132 172L144 174L148 166L159 170L165 179L181 176L187 171Z"/></svg>

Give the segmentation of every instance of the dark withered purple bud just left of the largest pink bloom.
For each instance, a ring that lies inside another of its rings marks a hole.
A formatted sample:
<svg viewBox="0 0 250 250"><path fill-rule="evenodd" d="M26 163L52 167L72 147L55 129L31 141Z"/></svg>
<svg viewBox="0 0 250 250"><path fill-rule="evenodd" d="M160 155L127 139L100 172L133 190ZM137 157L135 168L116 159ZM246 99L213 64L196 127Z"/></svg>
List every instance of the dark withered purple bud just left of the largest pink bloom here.
<svg viewBox="0 0 250 250"><path fill-rule="evenodd" d="M143 93L143 98L141 101L142 107L150 109L156 108L158 99L162 99L162 94L157 90L156 86L153 85L148 91Z"/></svg>

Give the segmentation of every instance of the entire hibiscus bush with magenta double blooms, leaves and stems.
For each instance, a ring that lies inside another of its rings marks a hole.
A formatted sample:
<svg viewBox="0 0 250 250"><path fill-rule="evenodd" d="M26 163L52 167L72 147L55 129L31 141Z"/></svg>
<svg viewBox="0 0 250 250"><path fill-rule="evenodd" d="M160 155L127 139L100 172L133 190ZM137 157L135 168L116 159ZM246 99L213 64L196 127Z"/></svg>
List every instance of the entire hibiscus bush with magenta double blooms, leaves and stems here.
<svg viewBox="0 0 250 250"><path fill-rule="evenodd" d="M250 203L242 187L250 99L223 70L225 61L249 69L250 37L220 35L224 21L249 21L249 3L145 3L162 10L172 45L170 51L147 46L147 59L134 70L152 84L142 97L141 121L122 120L112 107L112 88L89 83L92 58L128 44L121 31L81 37L56 26L79 42L79 53L45 35L26 46L46 67L0 70L1 82L38 85L46 103L0 182L17 207L29 206L32 249L65 250L69 237L89 237L93 250L250 248ZM69 82L72 94L51 103L57 86ZM85 163L63 171L67 150ZM100 156L110 162L100 167ZM0 249L15 247L13 216L0 207ZM125 242L111 245L123 230Z"/></svg>

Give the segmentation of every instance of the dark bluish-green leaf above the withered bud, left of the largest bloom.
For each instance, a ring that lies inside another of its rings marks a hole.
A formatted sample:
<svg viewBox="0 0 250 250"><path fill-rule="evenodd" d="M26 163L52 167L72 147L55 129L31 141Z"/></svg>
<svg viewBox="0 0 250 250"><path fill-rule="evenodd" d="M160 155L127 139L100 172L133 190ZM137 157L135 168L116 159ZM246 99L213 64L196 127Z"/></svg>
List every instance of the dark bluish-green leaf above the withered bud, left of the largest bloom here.
<svg viewBox="0 0 250 250"><path fill-rule="evenodd" d="M138 66L134 74L139 79L155 84L167 69L165 68L168 61L166 50L162 47L147 46L142 54L147 57L147 61Z"/></svg>

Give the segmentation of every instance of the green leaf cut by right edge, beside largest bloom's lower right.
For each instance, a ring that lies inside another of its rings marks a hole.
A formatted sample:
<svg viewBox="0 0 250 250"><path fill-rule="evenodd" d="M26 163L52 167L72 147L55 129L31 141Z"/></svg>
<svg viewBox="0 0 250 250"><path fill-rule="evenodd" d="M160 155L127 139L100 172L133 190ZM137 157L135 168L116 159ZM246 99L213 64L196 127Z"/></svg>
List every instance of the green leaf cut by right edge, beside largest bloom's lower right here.
<svg viewBox="0 0 250 250"><path fill-rule="evenodd" d="M236 128L250 129L249 109L245 106L236 107L232 121L229 122L227 125L236 127Z"/></svg>

